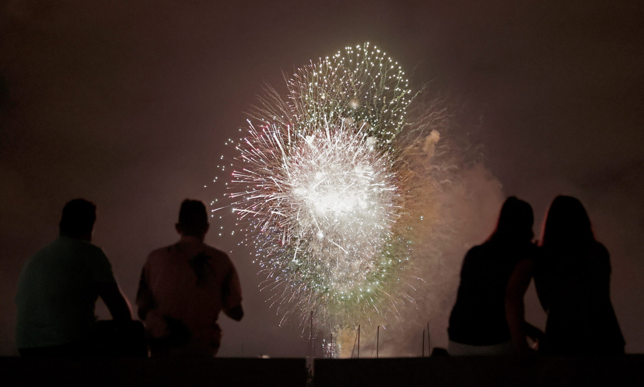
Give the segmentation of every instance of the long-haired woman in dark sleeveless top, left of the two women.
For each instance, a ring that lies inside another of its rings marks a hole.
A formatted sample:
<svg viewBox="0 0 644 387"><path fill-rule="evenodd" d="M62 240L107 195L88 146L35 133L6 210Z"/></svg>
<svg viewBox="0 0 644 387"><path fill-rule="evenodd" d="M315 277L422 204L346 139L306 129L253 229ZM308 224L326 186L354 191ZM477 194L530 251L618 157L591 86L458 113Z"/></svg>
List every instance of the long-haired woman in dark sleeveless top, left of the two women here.
<svg viewBox="0 0 644 387"><path fill-rule="evenodd" d="M511 354L515 347L506 318L506 303L523 301L525 289L508 289L517 264L533 264L538 248L531 242L534 215L530 204L508 197L501 208L497 228L479 246L466 254L460 270L456 303L450 315L448 352L450 355ZM518 292L518 294L508 294ZM514 332L536 336L536 328L522 315L513 323ZM525 341L525 336L524 336ZM527 347L527 345L526 345Z"/></svg>

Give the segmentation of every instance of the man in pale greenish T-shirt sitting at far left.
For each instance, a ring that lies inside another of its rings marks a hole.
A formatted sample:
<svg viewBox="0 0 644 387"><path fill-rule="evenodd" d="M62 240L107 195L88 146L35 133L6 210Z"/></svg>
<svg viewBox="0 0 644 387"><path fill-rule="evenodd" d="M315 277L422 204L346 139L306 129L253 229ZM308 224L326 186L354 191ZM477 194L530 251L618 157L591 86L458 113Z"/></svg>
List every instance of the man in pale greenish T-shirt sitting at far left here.
<svg viewBox="0 0 644 387"><path fill-rule="evenodd" d="M100 296L115 320L131 320L103 251L91 244L96 206L74 199L62 209L60 236L23 266L15 297L22 356L92 356Z"/></svg>

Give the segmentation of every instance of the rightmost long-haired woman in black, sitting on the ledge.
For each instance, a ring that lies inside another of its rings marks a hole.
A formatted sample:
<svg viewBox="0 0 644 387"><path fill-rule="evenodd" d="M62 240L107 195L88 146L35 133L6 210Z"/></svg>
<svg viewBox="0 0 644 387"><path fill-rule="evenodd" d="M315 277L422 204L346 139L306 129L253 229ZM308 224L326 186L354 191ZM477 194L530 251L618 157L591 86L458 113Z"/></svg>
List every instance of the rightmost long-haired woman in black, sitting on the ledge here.
<svg viewBox="0 0 644 387"><path fill-rule="evenodd" d="M578 199L554 199L540 246L535 285L548 314L540 352L623 354L625 342L611 303L609 253L595 240Z"/></svg>

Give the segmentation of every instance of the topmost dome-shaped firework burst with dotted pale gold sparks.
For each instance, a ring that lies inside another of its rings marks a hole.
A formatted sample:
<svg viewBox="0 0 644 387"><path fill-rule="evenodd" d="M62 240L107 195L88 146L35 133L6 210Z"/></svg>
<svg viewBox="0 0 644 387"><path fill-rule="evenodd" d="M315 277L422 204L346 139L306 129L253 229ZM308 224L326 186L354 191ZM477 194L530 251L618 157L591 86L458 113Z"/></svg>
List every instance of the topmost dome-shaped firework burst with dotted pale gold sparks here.
<svg viewBox="0 0 644 387"><path fill-rule="evenodd" d="M330 116L341 117L370 136L391 145L404 127L411 102L409 81L398 62L369 43L346 47L285 76L284 101L270 86L251 114L261 122L290 126L296 131L323 130Z"/></svg>

